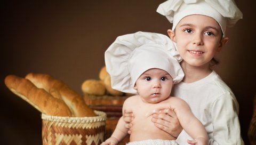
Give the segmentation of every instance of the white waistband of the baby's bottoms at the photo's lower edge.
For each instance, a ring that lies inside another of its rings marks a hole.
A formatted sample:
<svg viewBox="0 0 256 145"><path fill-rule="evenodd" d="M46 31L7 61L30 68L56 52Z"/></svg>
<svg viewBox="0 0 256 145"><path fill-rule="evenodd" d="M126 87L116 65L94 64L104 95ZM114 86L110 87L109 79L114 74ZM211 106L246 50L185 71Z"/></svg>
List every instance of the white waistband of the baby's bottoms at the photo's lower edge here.
<svg viewBox="0 0 256 145"><path fill-rule="evenodd" d="M178 145L174 140L142 140L126 143L126 145Z"/></svg>

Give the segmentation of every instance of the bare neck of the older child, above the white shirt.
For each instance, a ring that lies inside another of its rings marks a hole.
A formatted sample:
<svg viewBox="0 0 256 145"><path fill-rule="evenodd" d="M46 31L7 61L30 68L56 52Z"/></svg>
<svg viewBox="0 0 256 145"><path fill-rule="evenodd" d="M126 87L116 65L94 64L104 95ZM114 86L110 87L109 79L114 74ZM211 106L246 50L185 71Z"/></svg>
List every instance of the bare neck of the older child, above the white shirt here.
<svg viewBox="0 0 256 145"><path fill-rule="evenodd" d="M185 74L182 80L182 82L184 83L196 82L197 80L205 78L212 72L208 63L203 66L195 67L195 66L189 65L185 61L182 61L180 65Z"/></svg>

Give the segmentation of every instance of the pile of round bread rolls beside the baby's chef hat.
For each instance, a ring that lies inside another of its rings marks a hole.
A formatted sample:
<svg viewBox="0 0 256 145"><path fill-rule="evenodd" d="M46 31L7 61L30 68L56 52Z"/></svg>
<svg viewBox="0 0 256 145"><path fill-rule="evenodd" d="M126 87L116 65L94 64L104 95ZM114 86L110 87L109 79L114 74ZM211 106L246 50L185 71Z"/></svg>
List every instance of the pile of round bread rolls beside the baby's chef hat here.
<svg viewBox="0 0 256 145"><path fill-rule="evenodd" d="M125 94L121 91L114 90L111 87L110 75L106 71L106 66L100 69L99 79L87 79L82 83L82 91L84 95L111 95L111 96L123 96L131 95Z"/></svg>

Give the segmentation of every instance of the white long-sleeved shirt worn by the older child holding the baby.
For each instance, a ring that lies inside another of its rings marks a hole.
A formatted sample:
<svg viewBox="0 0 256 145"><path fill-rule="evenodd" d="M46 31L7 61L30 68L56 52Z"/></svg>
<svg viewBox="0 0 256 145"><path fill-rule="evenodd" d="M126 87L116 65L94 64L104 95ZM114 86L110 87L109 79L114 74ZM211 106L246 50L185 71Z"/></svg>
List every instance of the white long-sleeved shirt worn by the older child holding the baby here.
<svg viewBox="0 0 256 145"><path fill-rule="evenodd" d="M244 144L238 120L238 102L215 71L197 82L174 85L172 95L189 104L193 114L205 126L209 144ZM187 144L188 136L182 131L176 142Z"/></svg>

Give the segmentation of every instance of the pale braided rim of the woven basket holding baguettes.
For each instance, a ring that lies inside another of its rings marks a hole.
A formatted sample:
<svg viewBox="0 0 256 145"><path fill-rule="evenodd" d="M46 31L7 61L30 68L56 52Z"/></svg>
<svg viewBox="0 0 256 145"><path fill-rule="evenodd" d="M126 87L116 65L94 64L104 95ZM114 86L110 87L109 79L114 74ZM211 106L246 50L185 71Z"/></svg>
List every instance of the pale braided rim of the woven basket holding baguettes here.
<svg viewBox="0 0 256 145"><path fill-rule="evenodd" d="M93 123L93 122L103 122L107 119L107 115L103 111L94 110L97 116L93 117L62 117L62 116L51 116L42 114L41 118L43 120L51 122L60 123Z"/></svg>

